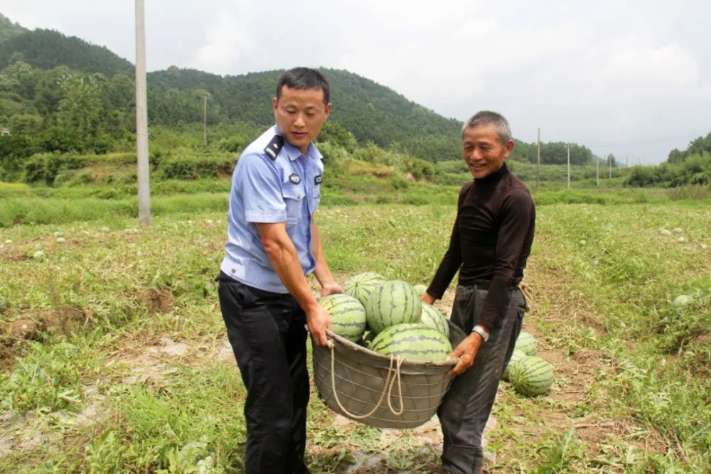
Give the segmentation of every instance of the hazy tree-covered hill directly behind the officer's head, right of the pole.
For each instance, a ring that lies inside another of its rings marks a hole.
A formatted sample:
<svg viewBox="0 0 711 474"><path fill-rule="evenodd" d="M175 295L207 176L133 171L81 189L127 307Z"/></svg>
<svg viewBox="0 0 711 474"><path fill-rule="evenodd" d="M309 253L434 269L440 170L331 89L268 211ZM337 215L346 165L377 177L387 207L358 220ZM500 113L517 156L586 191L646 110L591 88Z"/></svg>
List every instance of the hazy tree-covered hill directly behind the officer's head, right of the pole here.
<svg viewBox="0 0 711 474"><path fill-rule="evenodd" d="M271 97L282 72L220 77L191 69L169 68L152 72L149 88L152 88L154 102L159 102L161 95L176 95L176 90L203 89L210 93L213 107L219 107L224 119L266 125L274 120ZM417 136L456 136L459 133L458 121L444 118L372 80L345 70L321 69L321 72L331 83L331 119L351 131L361 143L373 141L387 146L394 142L405 143ZM202 112L200 107L197 110ZM185 117L155 114L153 118L169 124Z"/></svg>

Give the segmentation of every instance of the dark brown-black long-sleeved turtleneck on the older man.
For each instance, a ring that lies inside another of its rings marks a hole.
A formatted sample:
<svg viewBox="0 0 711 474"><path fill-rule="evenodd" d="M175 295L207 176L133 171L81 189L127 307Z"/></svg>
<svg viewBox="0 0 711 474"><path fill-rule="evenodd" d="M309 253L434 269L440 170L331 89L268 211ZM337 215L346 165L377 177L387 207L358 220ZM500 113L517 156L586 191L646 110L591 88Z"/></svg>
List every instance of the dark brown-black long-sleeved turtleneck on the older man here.
<svg viewBox="0 0 711 474"><path fill-rule="evenodd" d="M533 199L506 163L469 181L459 191L449 249L427 293L442 298L457 270L459 285L485 284L479 324L491 330L506 312L509 289L523 279L534 229Z"/></svg>

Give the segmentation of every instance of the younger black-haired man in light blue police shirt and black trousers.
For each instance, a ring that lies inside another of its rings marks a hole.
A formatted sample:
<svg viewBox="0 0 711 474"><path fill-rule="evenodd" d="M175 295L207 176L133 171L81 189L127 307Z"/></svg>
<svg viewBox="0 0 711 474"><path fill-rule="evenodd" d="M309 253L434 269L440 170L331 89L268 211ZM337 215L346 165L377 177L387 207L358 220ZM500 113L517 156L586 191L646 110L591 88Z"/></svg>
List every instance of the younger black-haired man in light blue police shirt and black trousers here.
<svg viewBox="0 0 711 474"><path fill-rule="evenodd" d="M228 242L219 296L228 338L247 387L245 473L309 473L304 464L306 329L326 345L331 328L306 281L341 293L321 249L314 212L321 153L312 141L331 112L320 72L284 72L272 99L276 125L240 156L232 176Z"/></svg>

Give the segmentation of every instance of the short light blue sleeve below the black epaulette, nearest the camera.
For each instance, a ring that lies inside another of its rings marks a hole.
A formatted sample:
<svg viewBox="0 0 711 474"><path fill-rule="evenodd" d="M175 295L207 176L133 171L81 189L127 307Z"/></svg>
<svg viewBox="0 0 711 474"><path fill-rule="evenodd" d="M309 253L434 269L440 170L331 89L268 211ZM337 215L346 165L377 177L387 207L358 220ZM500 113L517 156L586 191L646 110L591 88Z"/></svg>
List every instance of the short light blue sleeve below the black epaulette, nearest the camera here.
<svg viewBox="0 0 711 474"><path fill-rule="evenodd" d="M235 185L245 205L247 222L286 222L287 205L282 195L279 170L270 158L250 153L240 158Z"/></svg>

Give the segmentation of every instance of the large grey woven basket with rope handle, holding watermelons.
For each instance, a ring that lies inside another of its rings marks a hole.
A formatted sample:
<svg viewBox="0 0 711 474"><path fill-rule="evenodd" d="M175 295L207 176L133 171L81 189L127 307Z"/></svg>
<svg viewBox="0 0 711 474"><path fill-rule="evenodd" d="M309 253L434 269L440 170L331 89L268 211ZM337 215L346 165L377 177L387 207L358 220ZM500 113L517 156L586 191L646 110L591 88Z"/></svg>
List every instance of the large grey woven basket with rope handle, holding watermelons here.
<svg viewBox="0 0 711 474"><path fill-rule="evenodd" d="M379 428L414 428L437 411L456 360L415 362L386 357L328 331L314 346L314 379L328 408ZM334 383L335 382L335 383Z"/></svg>

